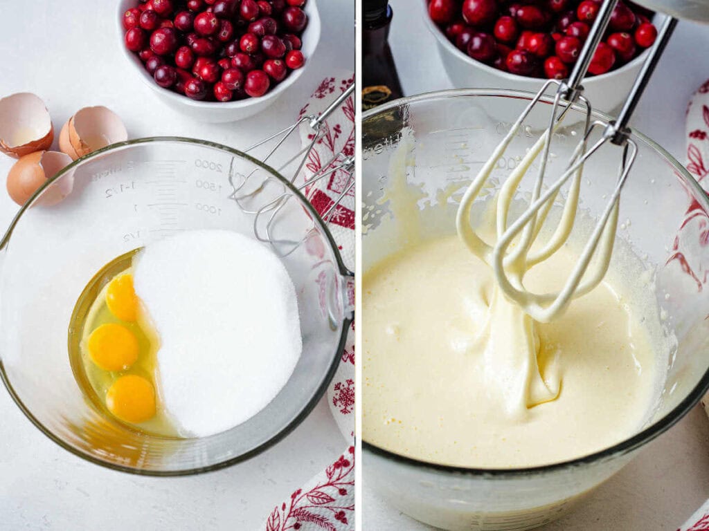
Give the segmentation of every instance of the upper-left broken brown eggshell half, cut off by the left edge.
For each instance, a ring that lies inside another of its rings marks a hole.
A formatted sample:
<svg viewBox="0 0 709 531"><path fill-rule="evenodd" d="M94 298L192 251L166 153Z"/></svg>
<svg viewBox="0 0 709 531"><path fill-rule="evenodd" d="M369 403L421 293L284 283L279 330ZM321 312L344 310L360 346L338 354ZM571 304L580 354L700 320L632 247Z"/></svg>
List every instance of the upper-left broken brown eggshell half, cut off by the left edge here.
<svg viewBox="0 0 709 531"><path fill-rule="evenodd" d="M20 92L0 99L0 151L19 159L48 149L54 139L52 119L44 102Z"/></svg>

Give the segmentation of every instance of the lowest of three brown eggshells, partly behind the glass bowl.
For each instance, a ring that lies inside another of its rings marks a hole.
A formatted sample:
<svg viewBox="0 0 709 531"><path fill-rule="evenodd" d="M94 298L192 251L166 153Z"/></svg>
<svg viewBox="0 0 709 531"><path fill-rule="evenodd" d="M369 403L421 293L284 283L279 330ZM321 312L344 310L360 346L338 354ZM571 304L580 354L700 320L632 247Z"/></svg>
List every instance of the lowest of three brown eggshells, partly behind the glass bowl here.
<svg viewBox="0 0 709 531"><path fill-rule="evenodd" d="M10 197L18 205L24 205L47 179L55 176L71 161L71 157L60 152L35 152L21 157L13 164L7 176L7 191ZM67 197L73 188L73 176L62 176L44 191L37 204L56 205Z"/></svg>

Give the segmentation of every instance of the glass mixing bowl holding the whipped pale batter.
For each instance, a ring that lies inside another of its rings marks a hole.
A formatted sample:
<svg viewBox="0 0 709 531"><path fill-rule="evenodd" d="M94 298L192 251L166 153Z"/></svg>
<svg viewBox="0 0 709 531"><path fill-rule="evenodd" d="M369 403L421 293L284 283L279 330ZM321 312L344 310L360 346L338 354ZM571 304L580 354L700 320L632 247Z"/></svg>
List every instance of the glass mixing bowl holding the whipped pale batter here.
<svg viewBox="0 0 709 531"><path fill-rule="evenodd" d="M419 202L420 212L426 212L425 202L435 202L437 191L469 183L531 96L492 89L443 91L394 101L364 114L365 271L403 245L395 231L374 237L382 217L393 215L389 203L380 199L397 149L408 142L408 148L403 148L411 149L406 178L428 193L428 199ZM537 107L515 137L493 172L487 198L539 136L537 128L547 123L550 101L546 98ZM582 115L578 108L571 113L566 121L569 127L554 137L550 169L559 164L557 161L568 159L580 137ZM600 113L595 118L608 120ZM638 144L638 156L621 196L614 260L624 249L651 271L647 280L654 283L652 296L657 299L666 332L676 338L675 347L666 353L666 360L661 360L666 379L658 385L661 392L658 389L652 418L630 438L593 455L525 469L474 469L421 462L369 444L365 432L362 447L367 485L398 510L446 530L523 530L544 525L618 472L647 442L679 421L709 388L709 292L705 289L709 277L709 202L696 181L664 149L637 132L633 139ZM586 164L581 209L591 217L603 209L619 162L620 149L611 145ZM438 198L445 201L441 212L454 215L457 204L450 193ZM452 222L431 223L431 218L425 218L430 232L454 234ZM366 376L366 367L364 371ZM366 404L366 387L363 395Z"/></svg>

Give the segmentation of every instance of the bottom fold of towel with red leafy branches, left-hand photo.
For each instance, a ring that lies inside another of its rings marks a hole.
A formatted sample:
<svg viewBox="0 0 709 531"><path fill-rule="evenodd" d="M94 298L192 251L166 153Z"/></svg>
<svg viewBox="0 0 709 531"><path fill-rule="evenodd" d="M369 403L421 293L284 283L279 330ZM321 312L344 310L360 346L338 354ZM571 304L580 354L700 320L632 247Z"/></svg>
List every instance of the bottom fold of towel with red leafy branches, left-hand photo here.
<svg viewBox="0 0 709 531"><path fill-rule="evenodd" d="M340 455L313 484L291 494L272 510L265 531L354 529L354 446Z"/></svg>

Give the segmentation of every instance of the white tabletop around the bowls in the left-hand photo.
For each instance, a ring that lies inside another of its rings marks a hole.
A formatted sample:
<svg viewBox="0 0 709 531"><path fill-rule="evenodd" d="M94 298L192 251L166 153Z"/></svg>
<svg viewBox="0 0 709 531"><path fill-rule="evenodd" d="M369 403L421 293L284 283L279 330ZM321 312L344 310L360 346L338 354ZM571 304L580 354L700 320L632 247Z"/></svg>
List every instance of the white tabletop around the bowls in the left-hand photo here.
<svg viewBox="0 0 709 531"><path fill-rule="evenodd" d="M121 57L116 6L106 0L2 2L0 96L38 94L57 136L79 108L106 105L130 137L182 135L247 147L292 122L325 76L354 68L354 2L319 0L318 7L323 34L308 72L245 122L202 124L164 107ZM11 164L0 154L0 233L17 210L4 190ZM345 447L323 399L288 438L244 464L201 476L143 478L60 449L0 389L0 530L256 530Z"/></svg>

